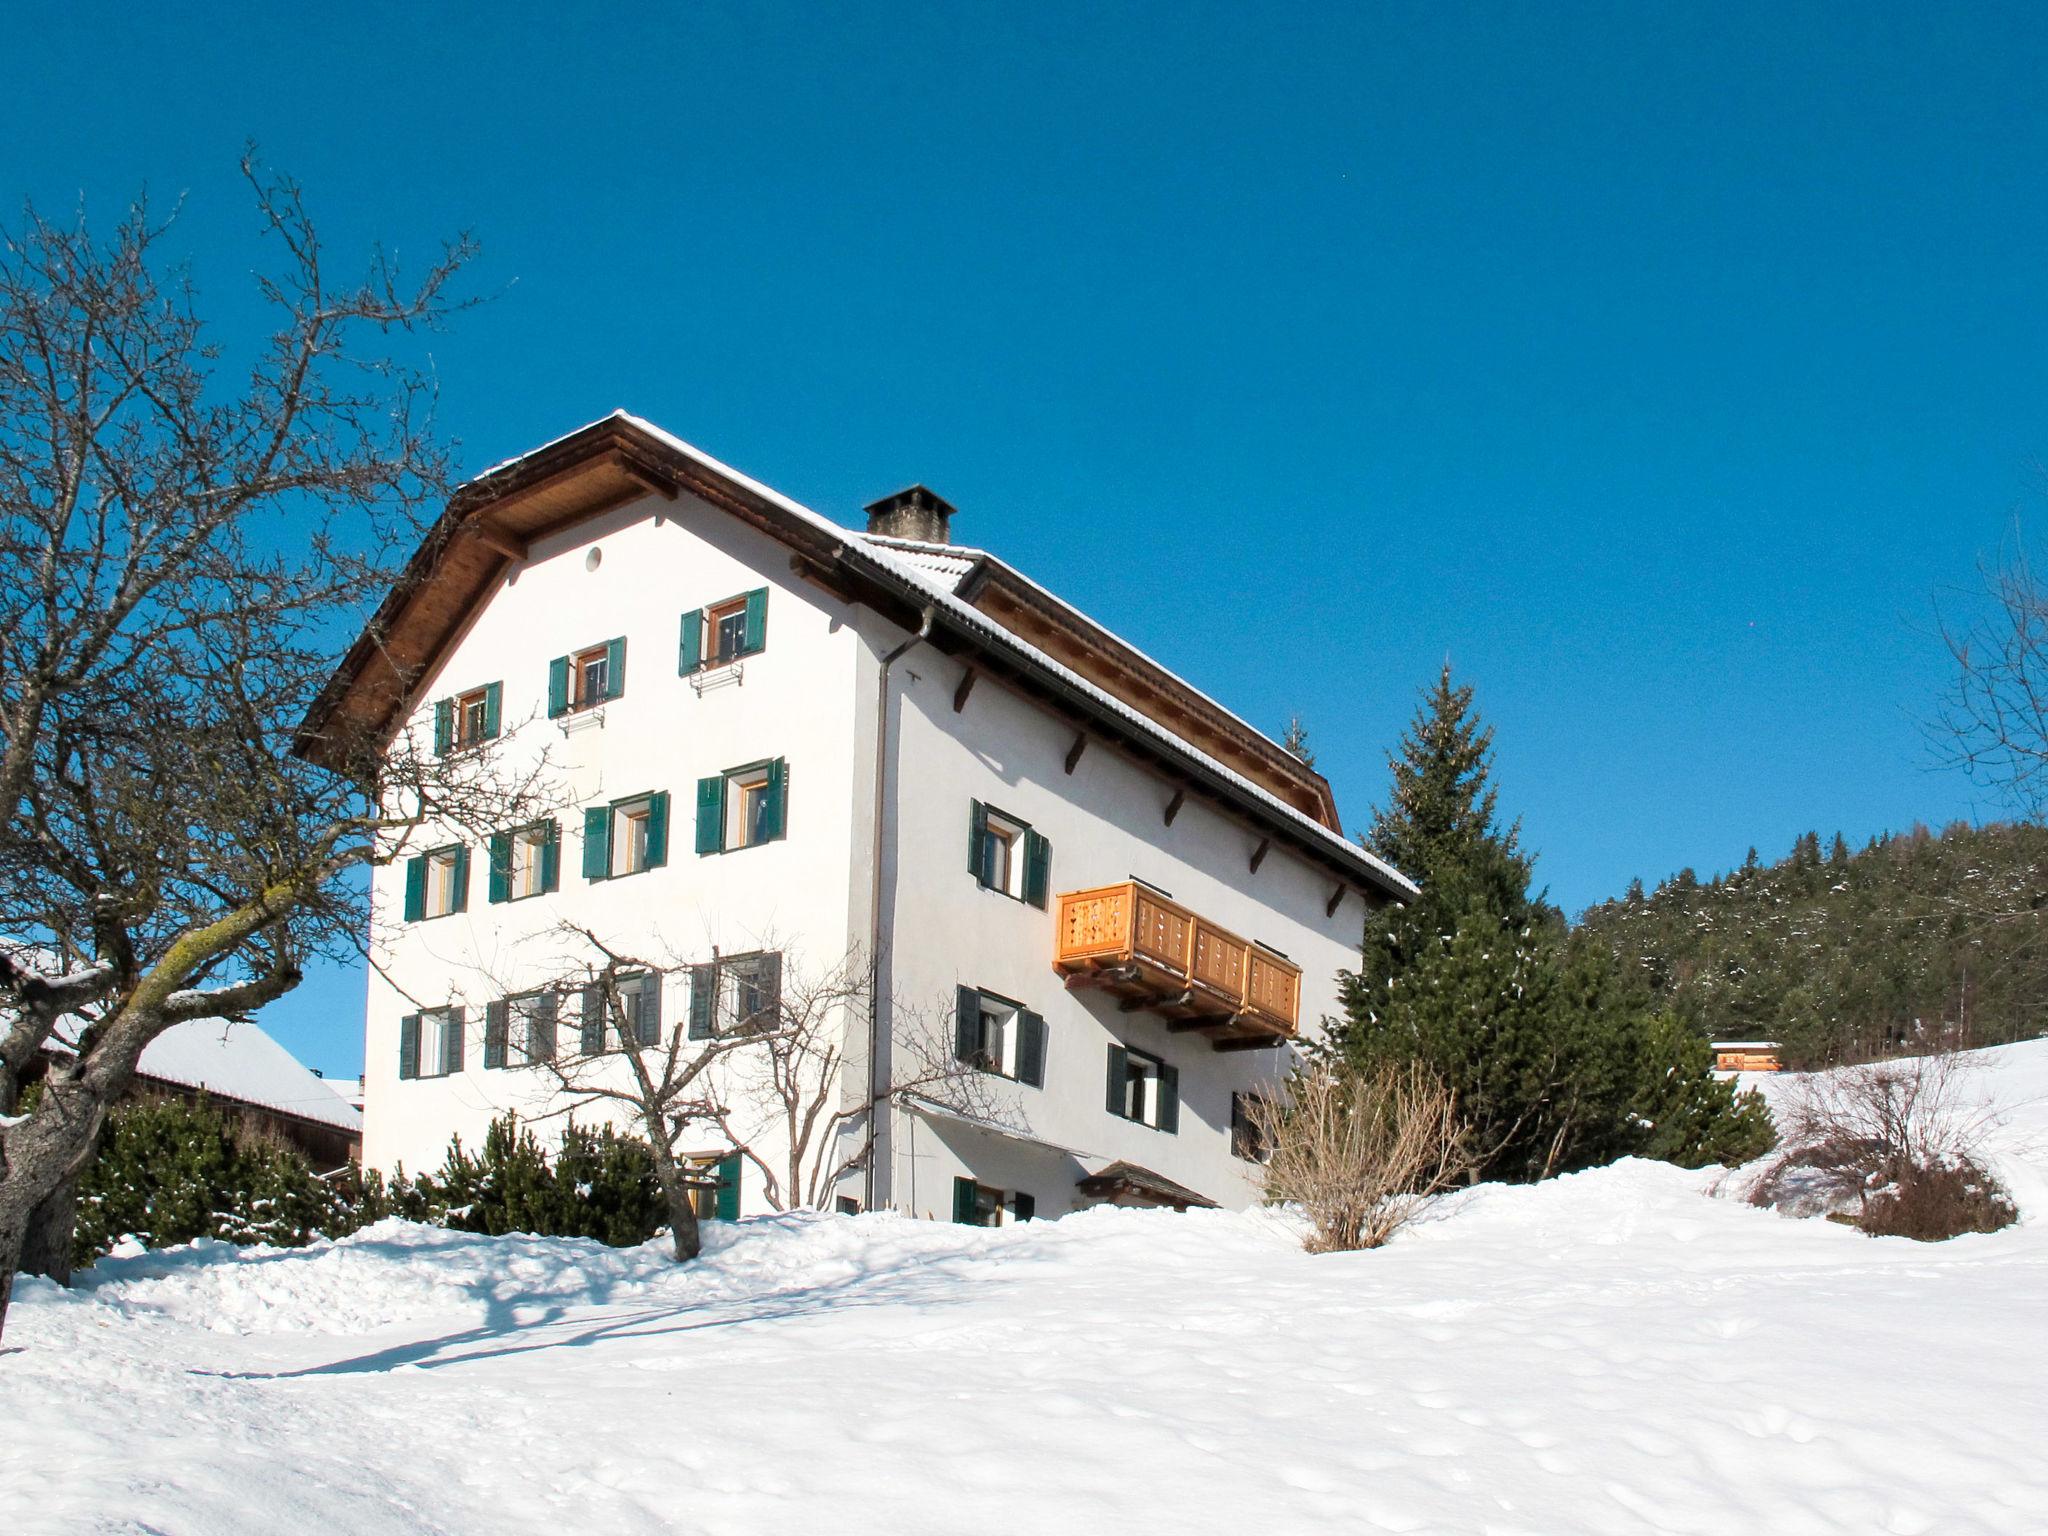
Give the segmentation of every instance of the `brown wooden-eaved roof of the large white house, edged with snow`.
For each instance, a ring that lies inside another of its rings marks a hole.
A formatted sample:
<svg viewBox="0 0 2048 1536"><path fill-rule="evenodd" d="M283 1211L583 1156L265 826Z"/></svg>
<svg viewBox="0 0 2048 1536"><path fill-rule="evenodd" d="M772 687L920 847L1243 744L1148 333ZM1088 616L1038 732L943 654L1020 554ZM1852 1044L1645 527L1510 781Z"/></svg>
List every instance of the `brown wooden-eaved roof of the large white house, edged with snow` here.
<svg viewBox="0 0 2048 1536"><path fill-rule="evenodd" d="M891 541L842 528L627 412L614 412L528 455L508 459L451 498L449 510L313 702L299 727L297 750L330 764L381 752L414 707L420 680L453 643L471 608L489 594L506 565L524 559L535 539L649 492L674 500L684 489L782 539L795 551L793 567L801 575L848 600L870 602L911 629L922 614L930 614L932 641L940 649L969 653L975 664L1004 672L1104 735L1176 768L1198 791L1249 813L1348 885L1395 899L1415 895L1413 881L1343 838L1333 805L1323 819L1288 803L963 598L958 586L965 575L956 561L967 555L942 553L950 545L891 549ZM991 565L981 557L971 569ZM1042 588L1030 586L1042 594ZM1057 606L1073 614L1065 604ZM1092 621L1083 623L1108 637ZM1284 756L1268 737L1180 684L1137 647L1122 641L1116 645L1241 727L1253 743ZM1327 799L1327 784L1313 770L1292 764L1286 772L1288 782L1298 778L1305 786L1321 786L1319 801ZM1313 788L1309 793L1317 795ZM1339 885L1339 893L1341 889Z"/></svg>

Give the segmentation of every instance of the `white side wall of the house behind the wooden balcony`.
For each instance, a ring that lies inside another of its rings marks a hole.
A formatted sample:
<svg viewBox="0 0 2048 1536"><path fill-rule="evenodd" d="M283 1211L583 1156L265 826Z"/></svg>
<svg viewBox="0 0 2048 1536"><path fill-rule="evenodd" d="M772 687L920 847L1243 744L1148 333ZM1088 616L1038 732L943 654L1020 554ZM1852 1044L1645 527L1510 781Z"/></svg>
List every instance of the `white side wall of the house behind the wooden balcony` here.
<svg viewBox="0 0 2048 1536"><path fill-rule="evenodd" d="M1004 1085L1034 1137L1067 1153L897 1114L893 1198L918 1214L950 1217L954 1176L1034 1196L1051 1217L1079 1200L1081 1169L1130 1161L1225 1204L1257 1198L1255 1169L1231 1155L1231 1094L1284 1073L1284 1051L1217 1051L1174 1034L1149 1012L1120 1012L1102 991L1069 993L1053 971L1061 891L1133 874L1231 932L1282 950L1303 969L1300 1014L1313 1026L1337 1012L1337 969L1354 965L1362 899L1325 915L1335 881L1274 846L1249 872L1262 834L1190 795L1167 827L1174 784L1092 739L1065 772L1073 725L977 682L952 711L961 666L911 651L897 670L897 786L893 995L934 1004L956 985L1016 997L1047 1020L1044 1087ZM969 870L971 801L1028 821L1053 844L1049 909L985 891ZM1180 1069L1180 1130L1169 1135L1108 1112L1108 1047L1122 1042Z"/></svg>

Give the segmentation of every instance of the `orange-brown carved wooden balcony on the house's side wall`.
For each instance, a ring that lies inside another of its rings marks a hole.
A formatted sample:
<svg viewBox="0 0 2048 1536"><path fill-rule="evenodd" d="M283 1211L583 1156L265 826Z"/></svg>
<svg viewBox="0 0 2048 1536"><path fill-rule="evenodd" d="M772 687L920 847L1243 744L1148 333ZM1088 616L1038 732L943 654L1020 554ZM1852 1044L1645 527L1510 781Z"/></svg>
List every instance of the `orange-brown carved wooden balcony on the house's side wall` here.
<svg viewBox="0 0 2048 1536"><path fill-rule="evenodd" d="M1139 881L1061 895L1053 969L1069 989L1108 991L1219 1051L1284 1044L1300 1022L1298 965Z"/></svg>

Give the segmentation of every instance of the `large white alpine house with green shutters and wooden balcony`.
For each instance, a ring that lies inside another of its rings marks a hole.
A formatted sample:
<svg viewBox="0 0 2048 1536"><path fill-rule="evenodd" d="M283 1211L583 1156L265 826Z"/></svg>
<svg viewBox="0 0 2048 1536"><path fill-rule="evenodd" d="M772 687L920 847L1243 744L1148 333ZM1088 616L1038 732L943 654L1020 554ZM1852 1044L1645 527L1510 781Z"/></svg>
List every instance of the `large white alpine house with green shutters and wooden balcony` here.
<svg viewBox="0 0 2048 1536"><path fill-rule="evenodd" d="M545 752L567 805L377 872L367 1165L561 1108L535 1055L608 1044L561 987L573 924L672 956L639 983L649 1038L872 967L840 1094L883 1110L840 1208L1257 1196L1241 1096L1335 1014L1366 905L1415 887L1319 774L950 518L913 487L848 530L623 412L453 498L301 752ZM993 1112L893 1092L932 1024ZM766 1208L717 1133L686 1151L717 1169L707 1214Z"/></svg>

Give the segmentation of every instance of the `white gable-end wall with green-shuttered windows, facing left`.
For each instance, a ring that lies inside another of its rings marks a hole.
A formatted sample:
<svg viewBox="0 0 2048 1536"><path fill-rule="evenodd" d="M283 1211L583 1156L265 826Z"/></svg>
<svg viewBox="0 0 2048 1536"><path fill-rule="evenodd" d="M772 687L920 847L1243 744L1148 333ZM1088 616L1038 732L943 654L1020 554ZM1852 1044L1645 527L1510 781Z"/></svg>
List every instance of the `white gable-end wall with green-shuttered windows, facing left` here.
<svg viewBox="0 0 2048 1536"><path fill-rule="evenodd" d="M760 586L770 590L766 649L741 662L737 680L694 690L678 676L682 612ZM602 719L547 719L549 662L616 635L627 639L625 694L602 707ZM868 782L854 762L856 651L844 606L795 580L780 543L692 498L647 498L535 545L424 686L414 729L432 739L436 698L504 684L498 750L508 764L551 754L567 799L561 889L487 903L487 854L471 840L469 909L408 924L403 864L377 872L379 965L365 1042L369 1165L438 1169L451 1135L473 1147L506 1110L537 1114L555 1102L543 1069L481 1063L485 1001L555 981L588 952L551 932L561 922L676 963L709 958L713 946L727 954L778 946L791 950L791 965L803 956L831 963L864 940L866 883L854 879L848 854L856 846L852 786ZM698 856L696 780L760 758L788 760L784 838ZM643 791L670 795L666 866L586 881L582 807ZM420 834L414 846L453 840ZM682 975L668 979L664 1020L684 1018L686 991ZM399 1018L442 1004L467 1008L465 1069L401 1081ZM563 1010L561 1030L573 1038L573 1008ZM758 1184L754 1169L748 1182ZM745 1206L762 1208L758 1190Z"/></svg>

